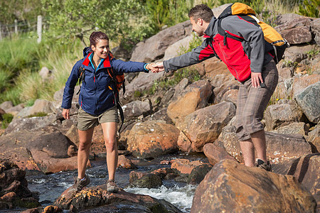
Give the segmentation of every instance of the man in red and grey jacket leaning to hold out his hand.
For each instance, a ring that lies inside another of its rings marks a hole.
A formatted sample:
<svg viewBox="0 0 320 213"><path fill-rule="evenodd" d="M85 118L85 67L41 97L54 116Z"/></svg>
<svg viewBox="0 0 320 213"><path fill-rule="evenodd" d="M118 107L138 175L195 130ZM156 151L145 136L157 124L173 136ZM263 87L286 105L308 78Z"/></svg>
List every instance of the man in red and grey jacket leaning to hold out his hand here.
<svg viewBox="0 0 320 213"><path fill-rule="evenodd" d="M159 71L178 70L217 55L228 66L231 74L241 82L236 127L245 165L270 171L267 160L263 112L277 87L278 72L272 54L265 48L260 28L241 16L227 16L221 28L233 38L218 32L218 19L205 4L194 6L188 13L192 31L206 39L197 48L184 55L159 62ZM224 32L223 31L223 32ZM241 38L241 39L237 39ZM257 160L255 160L255 150Z"/></svg>

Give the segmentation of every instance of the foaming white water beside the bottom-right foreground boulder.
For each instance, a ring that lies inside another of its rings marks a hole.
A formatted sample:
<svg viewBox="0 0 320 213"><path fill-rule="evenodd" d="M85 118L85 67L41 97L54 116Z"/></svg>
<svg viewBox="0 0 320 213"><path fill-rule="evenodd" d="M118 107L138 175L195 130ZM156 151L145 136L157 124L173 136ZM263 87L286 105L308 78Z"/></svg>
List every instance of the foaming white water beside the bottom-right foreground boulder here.
<svg viewBox="0 0 320 213"><path fill-rule="evenodd" d="M167 188L162 185L157 189L132 187L124 190L134 194L149 195L156 199L163 199L171 204L174 204L174 206L180 209L182 212L190 212L196 186L186 185L184 187L179 187L176 185L174 187Z"/></svg>

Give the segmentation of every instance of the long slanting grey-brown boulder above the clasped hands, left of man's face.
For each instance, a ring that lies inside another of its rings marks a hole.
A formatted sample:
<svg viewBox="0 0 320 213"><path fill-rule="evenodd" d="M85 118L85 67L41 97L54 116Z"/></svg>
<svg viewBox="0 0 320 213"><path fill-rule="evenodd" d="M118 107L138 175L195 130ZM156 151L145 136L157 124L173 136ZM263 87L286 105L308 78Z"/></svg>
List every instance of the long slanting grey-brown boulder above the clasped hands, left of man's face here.
<svg viewBox="0 0 320 213"><path fill-rule="evenodd" d="M139 62L153 62L164 57L166 48L178 40L191 34L191 23L185 21L171 26L156 35L138 43L134 48L130 60ZM143 54L142 54L143 53Z"/></svg>

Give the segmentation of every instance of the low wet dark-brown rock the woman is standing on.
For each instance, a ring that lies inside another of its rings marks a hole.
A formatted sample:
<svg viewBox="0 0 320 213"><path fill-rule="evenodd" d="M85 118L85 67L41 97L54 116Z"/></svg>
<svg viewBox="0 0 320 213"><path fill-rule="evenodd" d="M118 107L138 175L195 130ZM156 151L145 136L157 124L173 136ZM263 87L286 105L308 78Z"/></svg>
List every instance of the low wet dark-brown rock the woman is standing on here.
<svg viewBox="0 0 320 213"><path fill-rule="evenodd" d="M121 190L117 193L107 192L106 185L99 185L74 193L70 188L65 190L54 205L61 209L78 212L79 210L96 212L115 212L125 208L127 212L170 212L181 211L165 200L157 200L149 195L137 195Z"/></svg>

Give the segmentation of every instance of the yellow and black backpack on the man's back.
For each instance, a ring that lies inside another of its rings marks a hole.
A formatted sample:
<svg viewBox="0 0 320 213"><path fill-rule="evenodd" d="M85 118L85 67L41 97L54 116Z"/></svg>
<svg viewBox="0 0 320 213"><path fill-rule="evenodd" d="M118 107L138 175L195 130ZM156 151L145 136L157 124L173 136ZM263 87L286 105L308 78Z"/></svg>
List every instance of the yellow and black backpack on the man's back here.
<svg viewBox="0 0 320 213"><path fill-rule="evenodd" d="M278 63L280 60L282 60L282 57L284 55L284 50L289 47L289 43L287 40L282 38L282 35L278 33L272 26L268 25L267 23L264 23L263 21L260 21L255 15L255 11L246 4L242 4L239 2L230 4L218 17L218 31L220 35L225 34L225 36L229 36L228 33L226 33L223 28L221 28L221 19L225 18L227 16L241 16L245 19L245 21L249 21L250 23L255 24L255 26L262 29L265 40L267 41L267 45L269 47L266 47L266 49L269 51L270 49L273 49L272 52L274 54L274 62ZM221 34L223 33L223 34Z"/></svg>

